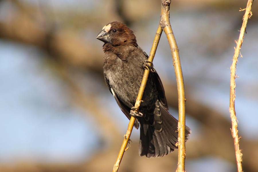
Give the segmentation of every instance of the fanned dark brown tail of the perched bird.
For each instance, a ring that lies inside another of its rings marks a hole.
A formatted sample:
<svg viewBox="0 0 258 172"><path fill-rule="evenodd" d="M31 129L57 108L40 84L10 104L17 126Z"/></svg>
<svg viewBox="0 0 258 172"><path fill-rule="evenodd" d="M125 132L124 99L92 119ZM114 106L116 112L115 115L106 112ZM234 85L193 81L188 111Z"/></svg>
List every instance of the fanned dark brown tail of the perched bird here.
<svg viewBox="0 0 258 172"><path fill-rule="evenodd" d="M156 106L157 108L157 106ZM176 120L173 116L165 110L162 104L158 107L160 118L152 116L154 122L150 124L150 120L146 121L144 118L139 118L140 122L140 143L139 143L139 155L150 157L163 157L168 153L172 152L175 148L178 132ZM157 110L155 109L155 113ZM159 115L158 114L158 115ZM159 127L155 127L155 118L159 120ZM160 121L162 119L162 121ZM161 122L161 123L160 123ZM159 129L159 130L157 130ZM191 130L185 126L186 140L189 138Z"/></svg>

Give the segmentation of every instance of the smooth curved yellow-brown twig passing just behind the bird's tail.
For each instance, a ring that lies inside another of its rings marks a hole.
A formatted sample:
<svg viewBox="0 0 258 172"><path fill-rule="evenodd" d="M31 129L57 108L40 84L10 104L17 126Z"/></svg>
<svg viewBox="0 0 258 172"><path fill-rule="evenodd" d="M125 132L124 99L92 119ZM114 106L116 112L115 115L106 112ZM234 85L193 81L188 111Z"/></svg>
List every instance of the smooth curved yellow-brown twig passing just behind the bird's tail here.
<svg viewBox="0 0 258 172"><path fill-rule="evenodd" d="M164 30L167 40L169 42L173 65L175 69L175 76L177 81L178 93L178 163L177 172L185 171L185 89L183 81L183 73L179 59L179 49L173 34L169 21L169 5L170 0L162 0L161 6L161 27Z"/></svg>

